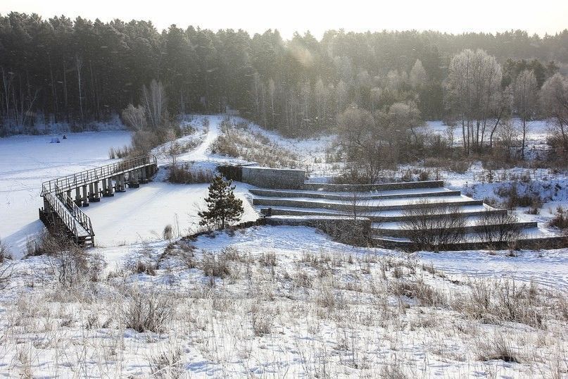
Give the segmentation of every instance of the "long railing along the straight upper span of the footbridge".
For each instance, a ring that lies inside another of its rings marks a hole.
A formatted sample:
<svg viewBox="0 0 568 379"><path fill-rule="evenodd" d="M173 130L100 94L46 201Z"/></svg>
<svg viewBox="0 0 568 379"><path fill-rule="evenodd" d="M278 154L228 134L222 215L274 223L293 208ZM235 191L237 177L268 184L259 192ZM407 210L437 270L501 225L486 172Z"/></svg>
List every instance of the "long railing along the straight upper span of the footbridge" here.
<svg viewBox="0 0 568 379"><path fill-rule="evenodd" d="M59 187L59 190L61 191L65 191L70 188L86 185L97 179L102 180L104 178L108 178L115 173L133 170L135 168L146 166L150 163L157 164L157 162L158 160L156 159L156 156L153 155L138 156L126 161L110 163L106 166L91 168L79 173L72 173L70 175L62 176L61 178L48 180L42 183L42 196L46 192L54 192L56 187Z"/></svg>

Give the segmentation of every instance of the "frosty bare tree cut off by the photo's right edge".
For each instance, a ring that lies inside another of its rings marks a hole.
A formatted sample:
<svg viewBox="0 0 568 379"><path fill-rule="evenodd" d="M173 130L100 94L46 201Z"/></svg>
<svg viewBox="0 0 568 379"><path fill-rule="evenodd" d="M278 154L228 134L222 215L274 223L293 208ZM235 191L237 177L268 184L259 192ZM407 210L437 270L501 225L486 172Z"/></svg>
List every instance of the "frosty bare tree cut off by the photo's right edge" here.
<svg viewBox="0 0 568 379"><path fill-rule="evenodd" d="M568 79L556 73L541 88L541 104L545 114L553 118L564 152L568 151Z"/></svg>

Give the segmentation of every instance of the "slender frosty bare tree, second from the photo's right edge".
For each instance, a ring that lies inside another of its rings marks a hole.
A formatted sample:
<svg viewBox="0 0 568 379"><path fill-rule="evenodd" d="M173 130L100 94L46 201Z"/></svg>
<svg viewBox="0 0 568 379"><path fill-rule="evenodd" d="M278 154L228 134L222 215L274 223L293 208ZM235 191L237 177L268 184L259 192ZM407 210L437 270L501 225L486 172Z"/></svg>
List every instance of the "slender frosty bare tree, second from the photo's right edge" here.
<svg viewBox="0 0 568 379"><path fill-rule="evenodd" d="M524 70L517 75L513 85L513 104L515 111L522 120L521 159L524 159L526 132L528 130L526 120L532 118L536 111L537 91L536 77L532 70Z"/></svg>

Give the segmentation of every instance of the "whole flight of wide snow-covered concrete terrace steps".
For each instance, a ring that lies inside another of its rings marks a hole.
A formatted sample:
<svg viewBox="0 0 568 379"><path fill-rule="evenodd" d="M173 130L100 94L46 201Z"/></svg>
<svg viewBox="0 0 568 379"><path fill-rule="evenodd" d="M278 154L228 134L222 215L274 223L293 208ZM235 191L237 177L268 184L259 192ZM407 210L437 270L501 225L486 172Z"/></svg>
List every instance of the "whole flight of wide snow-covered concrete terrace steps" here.
<svg viewBox="0 0 568 379"><path fill-rule="evenodd" d="M537 243L531 241L537 240L550 247L562 242L536 222L517 220L505 209L448 190L438 181L306 184L303 190L258 188L250 194L268 225L315 225L334 237L368 235L372 244L390 249L503 248L515 240L523 246L534 247ZM412 220L421 222L411 225ZM350 222L358 223L357 232Z"/></svg>

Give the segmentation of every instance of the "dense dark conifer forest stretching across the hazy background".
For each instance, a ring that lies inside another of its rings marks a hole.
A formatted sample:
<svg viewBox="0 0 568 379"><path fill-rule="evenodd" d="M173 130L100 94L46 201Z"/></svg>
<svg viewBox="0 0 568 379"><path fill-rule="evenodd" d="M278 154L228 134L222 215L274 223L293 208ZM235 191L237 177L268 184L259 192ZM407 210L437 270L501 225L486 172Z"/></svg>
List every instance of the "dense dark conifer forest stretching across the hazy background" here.
<svg viewBox="0 0 568 379"><path fill-rule="evenodd" d="M329 30L320 41L309 32L286 41L277 30L159 32L146 21L9 13L0 15L0 130L108 120L140 104L152 80L163 85L170 116L229 106L290 135L334 127L352 105L373 113L411 101L421 118L446 118L455 110L446 94L450 61L464 49L495 58L500 89L525 70L540 88L568 68L568 30L544 37Z"/></svg>

